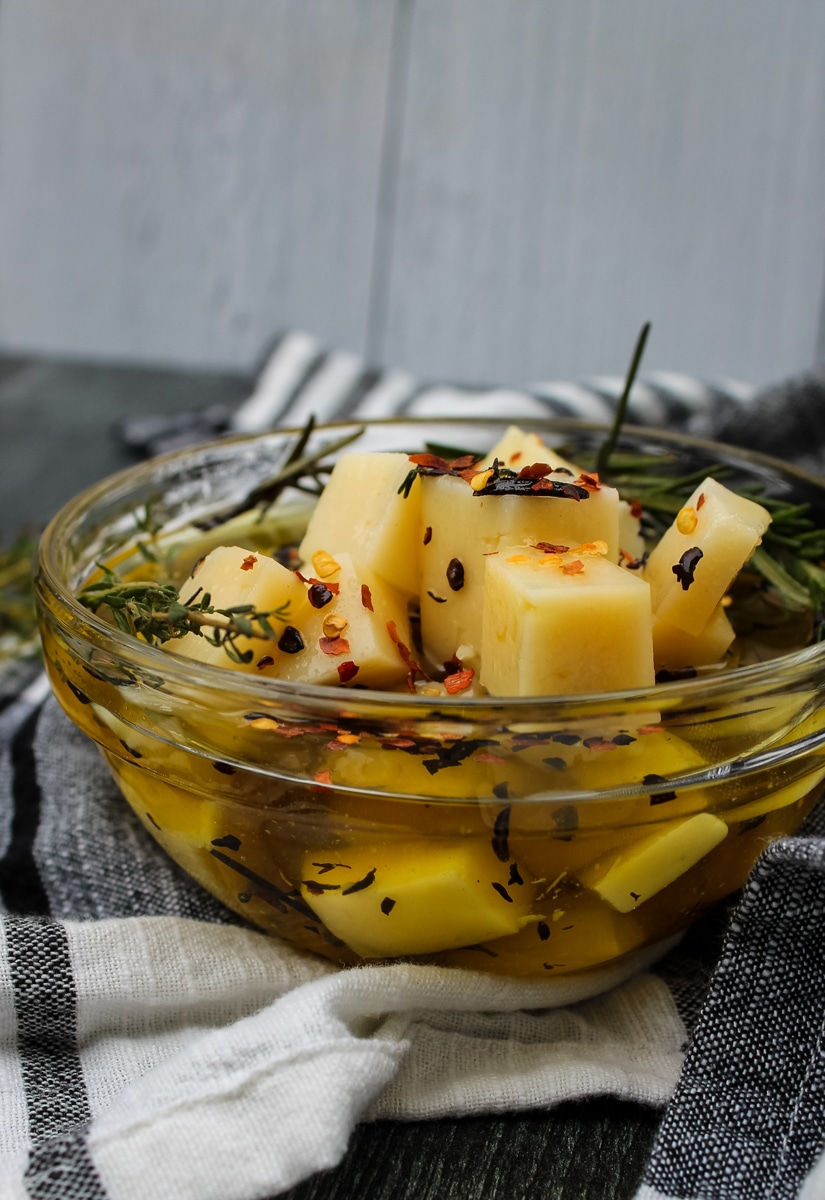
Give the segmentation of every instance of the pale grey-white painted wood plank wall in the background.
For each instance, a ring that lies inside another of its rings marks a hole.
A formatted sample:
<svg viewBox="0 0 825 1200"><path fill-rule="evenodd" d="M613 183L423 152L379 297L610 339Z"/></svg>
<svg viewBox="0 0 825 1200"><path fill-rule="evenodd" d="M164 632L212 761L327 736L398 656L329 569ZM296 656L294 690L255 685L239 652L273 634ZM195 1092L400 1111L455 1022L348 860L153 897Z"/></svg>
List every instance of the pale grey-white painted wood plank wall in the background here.
<svg viewBox="0 0 825 1200"><path fill-rule="evenodd" d="M825 350L821 0L0 0L0 349L765 383Z"/></svg>

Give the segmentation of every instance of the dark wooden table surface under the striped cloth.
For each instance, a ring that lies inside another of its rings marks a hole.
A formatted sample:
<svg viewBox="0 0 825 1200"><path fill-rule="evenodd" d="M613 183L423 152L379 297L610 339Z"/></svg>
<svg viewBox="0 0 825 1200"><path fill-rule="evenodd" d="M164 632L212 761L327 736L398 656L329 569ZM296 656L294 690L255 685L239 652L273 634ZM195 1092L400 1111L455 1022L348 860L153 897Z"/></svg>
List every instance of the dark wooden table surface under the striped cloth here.
<svg viewBox="0 0 825 1200"><path fill-rule="evenodd" d="M235 406L239 374L0 358L0 547L136 461L126 418ZM343 1163L287 1200L626 1200L661 1114L601 1097L553 1110L359 1127Z"/></svg>

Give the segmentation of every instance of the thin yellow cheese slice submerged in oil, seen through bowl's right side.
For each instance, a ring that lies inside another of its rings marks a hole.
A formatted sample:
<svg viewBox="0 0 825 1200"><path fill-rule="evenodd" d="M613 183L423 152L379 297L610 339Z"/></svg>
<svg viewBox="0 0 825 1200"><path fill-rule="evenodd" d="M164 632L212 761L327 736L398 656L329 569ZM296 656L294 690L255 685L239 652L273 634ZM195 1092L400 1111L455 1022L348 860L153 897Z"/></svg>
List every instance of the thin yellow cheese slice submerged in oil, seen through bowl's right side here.
<svg viewBox="0 0 825 1200"><path fill-rule="evenodd" d="M698 812L642 838L609 865L596 862L577 876L619 912L632 912L709 854L727 833L724 821Z"/></svg>

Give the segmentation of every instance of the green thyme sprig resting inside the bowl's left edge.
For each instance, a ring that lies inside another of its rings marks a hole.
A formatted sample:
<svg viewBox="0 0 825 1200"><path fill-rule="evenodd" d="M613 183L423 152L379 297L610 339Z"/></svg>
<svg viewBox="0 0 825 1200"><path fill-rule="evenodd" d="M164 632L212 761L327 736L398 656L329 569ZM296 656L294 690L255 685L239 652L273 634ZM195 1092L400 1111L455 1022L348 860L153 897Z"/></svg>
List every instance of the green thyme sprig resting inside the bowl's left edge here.
<svg viewBox="0 0 825 1200"><path fill-rule="evenodd" d="M181 600L173 584L143 580L124 582L109 568L97 565L101 577L88 583L78 593L78 600L90 612L107 610L118 629L141 637L150 646L195 634L212 646L223 647L234 662L251 662L253 652L240 649L239 637L271 642L277 638L272 622L285 625L289 620L289 601L267 612L260 612L254 605L216 608L209 592L201 588L188 600Z"/></svg>

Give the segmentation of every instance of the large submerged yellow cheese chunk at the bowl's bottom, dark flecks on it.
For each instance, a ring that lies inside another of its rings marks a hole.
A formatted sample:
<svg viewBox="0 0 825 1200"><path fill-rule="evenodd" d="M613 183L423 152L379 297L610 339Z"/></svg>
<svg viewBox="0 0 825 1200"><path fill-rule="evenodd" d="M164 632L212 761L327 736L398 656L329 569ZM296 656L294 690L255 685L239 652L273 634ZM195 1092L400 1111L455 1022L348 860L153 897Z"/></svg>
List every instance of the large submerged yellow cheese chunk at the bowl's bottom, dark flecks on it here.
<svg viewBox="0 0 825 1200"><path fill-rule="evenodd" d="M536 888L488 841L427 839L314 851L301 894L336 937L373 959L516 934Z"/></svg>

